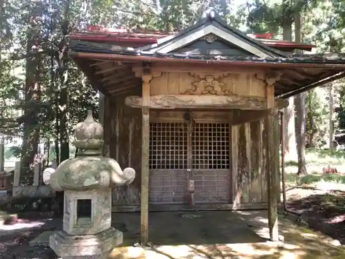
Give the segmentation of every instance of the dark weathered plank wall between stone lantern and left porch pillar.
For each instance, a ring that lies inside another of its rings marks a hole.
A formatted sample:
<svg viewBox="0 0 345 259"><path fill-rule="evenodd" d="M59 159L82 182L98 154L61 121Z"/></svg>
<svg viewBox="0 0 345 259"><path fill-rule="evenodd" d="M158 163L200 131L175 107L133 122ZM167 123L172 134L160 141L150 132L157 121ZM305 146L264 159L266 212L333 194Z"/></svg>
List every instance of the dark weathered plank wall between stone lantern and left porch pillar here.
<svg viewBox="0 0 345 259"><path fill-rule="evenodd" d="M128 94L138 94L133 90ZM111 97L112 106L107 106L105 130L110 134L109 156L119 162L121 169L130 166L136 171L135 180L129 186L113 189L113 206L140 204L141 186L141 110L130 108L124 103L124 96Z"/></svg>

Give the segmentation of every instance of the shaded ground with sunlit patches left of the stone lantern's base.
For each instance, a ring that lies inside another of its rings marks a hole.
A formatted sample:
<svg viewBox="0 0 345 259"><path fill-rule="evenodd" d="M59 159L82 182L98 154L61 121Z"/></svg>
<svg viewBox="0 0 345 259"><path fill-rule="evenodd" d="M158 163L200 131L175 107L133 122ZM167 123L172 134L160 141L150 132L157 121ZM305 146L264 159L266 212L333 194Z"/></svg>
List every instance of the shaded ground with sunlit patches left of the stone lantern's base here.
<svg viewBox="0 0 345 259"><path fill-rule="evenodd" d="M61 219L18 220L0 225L0 259L57 259L49 247L30 247L30 241L47 230L61 229Z"/></svg>

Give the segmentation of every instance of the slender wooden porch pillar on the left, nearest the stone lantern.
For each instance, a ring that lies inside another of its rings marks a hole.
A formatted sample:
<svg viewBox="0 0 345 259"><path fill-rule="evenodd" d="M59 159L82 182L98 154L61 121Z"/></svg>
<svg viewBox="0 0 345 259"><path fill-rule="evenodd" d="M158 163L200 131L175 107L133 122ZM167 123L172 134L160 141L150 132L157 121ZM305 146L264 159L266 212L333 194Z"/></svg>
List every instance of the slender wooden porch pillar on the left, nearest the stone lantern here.
<svg viewBox="0 0 345 259"><path fill-rule="evenodd" d="M141 244L148 243L148 155L150 151L150 73L142 75L142 143L141 143Z"/></svg>

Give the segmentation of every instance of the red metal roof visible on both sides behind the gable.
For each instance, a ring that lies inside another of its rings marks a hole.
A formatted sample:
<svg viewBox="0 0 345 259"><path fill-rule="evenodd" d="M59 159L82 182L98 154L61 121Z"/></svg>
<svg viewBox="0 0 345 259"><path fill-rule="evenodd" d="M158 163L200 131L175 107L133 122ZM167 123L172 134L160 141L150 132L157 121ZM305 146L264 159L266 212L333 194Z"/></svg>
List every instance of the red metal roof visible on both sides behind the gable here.
<svg viewBox="0 0 345 259"><path fill-rule="evenodd" d="M119 28L104 28L101 26L89 26L86 32L75 32L70 34L68 37L70 39L80 39L83 41L97 41L97 42L108 42L108 43L132 43L139 44L142 46L149 44L156 44L157 39L161 39L172 35L174 32L168 34L164 32L159 32L155 30L147 30L142 28L137 28L134 31ZM292 41L280 41L276 39L271 39L273 37L272 33L266 33L263 35L248 35L262 41L272 48L299 48L302 50L311 51L315 48L315 45L311 44L296 44Z"/></svg>

